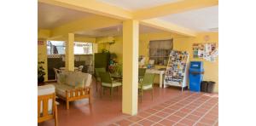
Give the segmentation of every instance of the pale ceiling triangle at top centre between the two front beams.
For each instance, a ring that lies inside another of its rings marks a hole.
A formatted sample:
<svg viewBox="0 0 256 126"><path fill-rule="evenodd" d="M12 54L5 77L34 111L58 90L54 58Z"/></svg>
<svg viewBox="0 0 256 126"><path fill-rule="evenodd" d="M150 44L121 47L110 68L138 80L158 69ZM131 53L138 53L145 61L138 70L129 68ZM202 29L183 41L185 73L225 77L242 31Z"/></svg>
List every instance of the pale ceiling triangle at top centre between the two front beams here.
<svg viewBox="0 0 256 126"><path fill-rule="evenodd" d="M121 7L127 10L146 9L154 6L159 6L166 3L176 3L183 0L97 0L102 3L108 3L114 6Z"/></svg>

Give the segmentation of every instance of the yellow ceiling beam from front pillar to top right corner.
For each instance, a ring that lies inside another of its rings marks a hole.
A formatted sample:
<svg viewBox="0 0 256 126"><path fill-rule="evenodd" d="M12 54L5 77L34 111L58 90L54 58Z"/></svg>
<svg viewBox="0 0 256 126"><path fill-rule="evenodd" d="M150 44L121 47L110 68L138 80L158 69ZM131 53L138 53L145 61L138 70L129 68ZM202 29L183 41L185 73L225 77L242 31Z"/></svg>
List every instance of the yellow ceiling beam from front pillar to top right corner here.
<svg viewBox="0 0 256 126"><path fill-rule="evenodd" d="M201 9L218 5L218 0L183 0L177 3L167 3L148 9L133 12L133 19L148 20L170 14L182 13L192 9Z"/></svg>

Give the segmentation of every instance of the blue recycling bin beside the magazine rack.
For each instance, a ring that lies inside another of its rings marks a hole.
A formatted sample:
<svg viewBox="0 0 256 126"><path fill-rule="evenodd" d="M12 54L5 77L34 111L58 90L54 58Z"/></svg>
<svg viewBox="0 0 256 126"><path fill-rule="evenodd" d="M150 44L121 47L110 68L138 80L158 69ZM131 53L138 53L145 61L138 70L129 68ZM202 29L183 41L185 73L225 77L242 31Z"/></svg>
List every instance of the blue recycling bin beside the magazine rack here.
<svg viewBox="0 0 256 126"><path fill-rule="evenodd" d="M203 79L203 62L202 61L190 61L189 67L189 90L200 92L201 81Z"/></svg>

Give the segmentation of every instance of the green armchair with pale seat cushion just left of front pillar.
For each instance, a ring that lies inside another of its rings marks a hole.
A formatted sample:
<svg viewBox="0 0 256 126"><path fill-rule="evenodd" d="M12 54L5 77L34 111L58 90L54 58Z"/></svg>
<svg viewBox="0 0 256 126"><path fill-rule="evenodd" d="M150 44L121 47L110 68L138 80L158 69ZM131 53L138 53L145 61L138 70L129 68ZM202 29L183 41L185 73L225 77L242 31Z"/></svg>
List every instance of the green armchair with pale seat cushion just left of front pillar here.
<svg viewBox="0 0 256 126"><path fill-rule="evenodd" d="M102 89L103 89L103 94L105 88L110 89L110 95L111 95L111 100L113 98L113 88L122 86L121 82L115 82L111 79L110 73L109 72L100 72L100 77L101 77L101 82L102 82L102 88L101 88L101 97L102 97Z"/></svg>

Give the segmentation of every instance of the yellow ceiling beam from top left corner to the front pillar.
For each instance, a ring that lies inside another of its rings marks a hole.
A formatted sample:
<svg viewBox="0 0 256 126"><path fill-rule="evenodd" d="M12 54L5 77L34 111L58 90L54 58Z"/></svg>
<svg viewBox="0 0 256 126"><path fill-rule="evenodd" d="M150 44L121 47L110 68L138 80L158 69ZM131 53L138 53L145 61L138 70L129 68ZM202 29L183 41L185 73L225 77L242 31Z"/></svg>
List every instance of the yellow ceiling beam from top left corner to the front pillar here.
<svg viewBox="0 0 256 126"><path fill-rule="evenodd" d="M131 11L107 3L97 2L96 0L38 0L38 2L108 16L119 20L132 19Z"/></svg>

